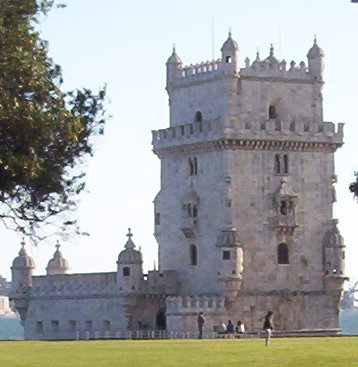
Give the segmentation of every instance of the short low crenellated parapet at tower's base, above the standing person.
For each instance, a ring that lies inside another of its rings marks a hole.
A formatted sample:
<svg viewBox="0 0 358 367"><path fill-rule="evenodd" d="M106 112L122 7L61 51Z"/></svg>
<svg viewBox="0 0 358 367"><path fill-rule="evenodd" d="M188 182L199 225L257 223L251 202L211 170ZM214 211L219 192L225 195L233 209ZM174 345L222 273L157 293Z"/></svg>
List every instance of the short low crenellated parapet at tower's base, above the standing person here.
<svg viewBox="0 0 358 367"><path fill-rule="evenodd" d="M165 300L168 315L226 313L225 297L223 296L178 296L167 297Z"/></svg>

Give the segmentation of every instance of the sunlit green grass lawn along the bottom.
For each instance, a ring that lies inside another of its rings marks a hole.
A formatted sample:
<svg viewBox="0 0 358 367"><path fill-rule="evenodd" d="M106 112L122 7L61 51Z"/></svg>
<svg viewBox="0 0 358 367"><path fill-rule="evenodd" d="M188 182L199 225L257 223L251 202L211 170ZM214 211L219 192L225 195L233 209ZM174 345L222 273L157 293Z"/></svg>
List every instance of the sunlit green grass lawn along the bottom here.
<svg viewBox="0 0 358 367"><path fill-rule="evenodd" d="M350 367L358 338L1 342L0 367Z"/></svg>

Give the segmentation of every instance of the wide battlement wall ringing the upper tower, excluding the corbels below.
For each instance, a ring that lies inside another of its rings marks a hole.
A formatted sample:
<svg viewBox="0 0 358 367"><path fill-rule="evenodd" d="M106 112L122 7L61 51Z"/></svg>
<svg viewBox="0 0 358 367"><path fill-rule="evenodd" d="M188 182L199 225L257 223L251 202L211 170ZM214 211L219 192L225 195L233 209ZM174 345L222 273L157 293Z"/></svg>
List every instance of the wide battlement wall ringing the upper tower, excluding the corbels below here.
<svg viewBox="0 0 358 367"><path fill-rule="evenodd" d="M343 123L338 128L331 122L235 120L229 124L219 119L194 122L152 131L154 151L179 145L210 142L221 139L281 142L312 142L342 144Z"/></svg>

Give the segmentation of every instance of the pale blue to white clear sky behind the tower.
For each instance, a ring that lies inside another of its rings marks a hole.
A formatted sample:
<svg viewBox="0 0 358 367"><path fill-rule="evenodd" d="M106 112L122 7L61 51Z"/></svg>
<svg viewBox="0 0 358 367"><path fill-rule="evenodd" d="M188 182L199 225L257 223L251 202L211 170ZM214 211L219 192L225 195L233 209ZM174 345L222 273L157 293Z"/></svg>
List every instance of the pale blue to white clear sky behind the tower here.
<svg viewBox="0 0 358 367"><path fill-rule="evenodd" d="M338 202L334 217L347 245L346 273L358 280L358 203L348 191L358 171L358 4L349 0L65 0L38 26L49 55L63 68L64 89L105 83L105 135L86 161L87 190L77 210L89 237L61 243L71 272L115 271L128 228L144 256L157 261L153 199L159 191L159 159L151 130L169 126L165 62L173 44L184 64L220 57L231 29L244 59L269 54L307 62L316 35L325 52L324 120L345 122L345 144L335 156ZM214 46L214 47L213 47ZM0 274L10 278L21 236L0 227ZM45 274L55 243L27 246L36 274Z"/></svg>

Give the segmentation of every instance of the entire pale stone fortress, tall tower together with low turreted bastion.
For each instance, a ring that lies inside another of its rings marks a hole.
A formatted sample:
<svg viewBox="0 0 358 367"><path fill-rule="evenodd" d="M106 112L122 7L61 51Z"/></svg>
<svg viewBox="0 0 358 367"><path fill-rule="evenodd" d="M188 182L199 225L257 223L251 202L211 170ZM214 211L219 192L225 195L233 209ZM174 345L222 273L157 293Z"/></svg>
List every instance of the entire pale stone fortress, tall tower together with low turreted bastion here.
<svg viewBox="0 0 358 367"><path fill-rule="evenodd" d="M196 331L200 311L206 331L231 319L257 332L272 310L276 330L339 333L343 124L323 121L323 51L315 39L307 64L287 65L271 46L240 68L229 33L221 54L184 66L174 49L166 63L170 127L152 132L158 270L143 274L130 231L108 273L68 274L57 246L47 275L34 276L22 246L10 297L26 339Z"/></svg>

